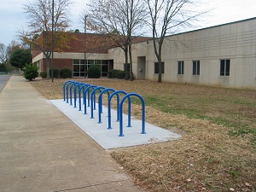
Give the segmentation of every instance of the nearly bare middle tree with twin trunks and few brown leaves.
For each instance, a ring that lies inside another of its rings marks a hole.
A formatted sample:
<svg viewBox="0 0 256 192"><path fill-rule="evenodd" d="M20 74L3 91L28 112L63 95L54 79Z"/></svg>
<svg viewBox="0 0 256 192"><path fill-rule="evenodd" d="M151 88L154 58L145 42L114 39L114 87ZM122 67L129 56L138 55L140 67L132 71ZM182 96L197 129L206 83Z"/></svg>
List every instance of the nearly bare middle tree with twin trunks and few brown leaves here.
<svg viewBox="0 0 256 192"><path fill-rule="evenodd" d="M125 79L128 79L127 64L130 60L132 75L131 44L134 37L141 35L147 16L145 3L139 0L90 0L90 30L108 34L109 38L125 52Z"/></svg>

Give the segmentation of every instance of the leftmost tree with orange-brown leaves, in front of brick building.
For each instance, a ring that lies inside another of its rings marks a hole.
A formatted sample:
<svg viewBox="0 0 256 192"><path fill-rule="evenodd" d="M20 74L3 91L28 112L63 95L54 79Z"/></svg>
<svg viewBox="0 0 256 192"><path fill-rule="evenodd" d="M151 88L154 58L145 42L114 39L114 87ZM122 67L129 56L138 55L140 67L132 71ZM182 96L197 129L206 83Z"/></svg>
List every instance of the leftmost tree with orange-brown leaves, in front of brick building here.
<svg viewBox="0 0 256 192"><path fill-rule="evenodd" d="M54 3L54 44L55 50L61 51L67 47L71 40L65 32L69 26L70 0L55 0ZM52 3L50 0L33 0L24 5L25 13L28 15L28 27L30 32L19 32L20 40L30 44L32 49L43 52L47 63L47 77L49 78L49 58L51 56L51 27L52 27Z"/></svg>

